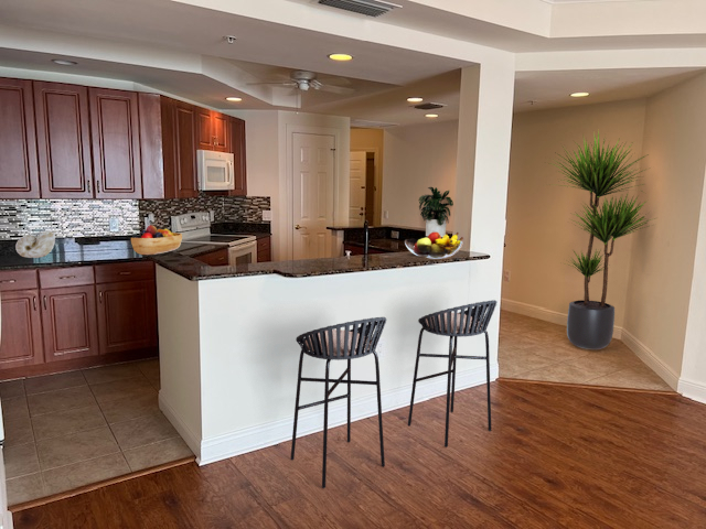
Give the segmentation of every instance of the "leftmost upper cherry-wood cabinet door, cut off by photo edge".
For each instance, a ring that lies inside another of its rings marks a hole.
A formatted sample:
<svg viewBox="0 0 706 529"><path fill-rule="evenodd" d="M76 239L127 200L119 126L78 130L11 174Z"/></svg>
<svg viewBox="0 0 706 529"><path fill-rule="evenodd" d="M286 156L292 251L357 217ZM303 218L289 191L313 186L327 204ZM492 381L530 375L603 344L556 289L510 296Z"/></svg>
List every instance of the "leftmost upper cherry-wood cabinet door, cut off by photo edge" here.
<svg viewBox="0 0 706 529"><path fill-rule="evenodd" d="M0 79L0 198L39 198L32 82Z"/></svg>

